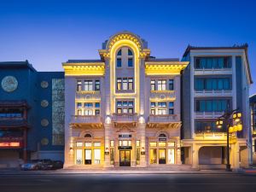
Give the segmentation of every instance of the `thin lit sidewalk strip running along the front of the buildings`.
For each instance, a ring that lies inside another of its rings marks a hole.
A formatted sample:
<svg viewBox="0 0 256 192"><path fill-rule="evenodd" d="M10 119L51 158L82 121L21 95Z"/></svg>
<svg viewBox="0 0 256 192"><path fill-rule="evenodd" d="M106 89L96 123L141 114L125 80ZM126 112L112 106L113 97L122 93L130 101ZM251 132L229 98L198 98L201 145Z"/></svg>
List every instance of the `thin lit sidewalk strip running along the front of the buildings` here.
<svg viewBox="0 0 256 192"><path fill-rule="evenodd" d="M256 171L256 170L255 170ZM65 175L65 174L237 174L247 172L225 172L224 170L143 170L143 169L94 169L94 170L49 170L49 171L21 171L18 169L0 169L0 175ZM256 173L256 172L255 172Z"/></svg>

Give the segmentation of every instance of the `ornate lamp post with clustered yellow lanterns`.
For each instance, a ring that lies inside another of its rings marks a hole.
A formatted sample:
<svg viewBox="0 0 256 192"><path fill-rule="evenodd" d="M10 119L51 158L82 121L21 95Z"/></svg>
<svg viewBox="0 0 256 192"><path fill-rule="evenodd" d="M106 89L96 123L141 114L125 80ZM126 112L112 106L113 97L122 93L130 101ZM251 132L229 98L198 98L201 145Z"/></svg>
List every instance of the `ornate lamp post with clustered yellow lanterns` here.
<svg viewBox="0 0 256 192"><path fill-rule="evenodd" d="M218 118L216 121L217 128L222 128L226 126L226 133L227 133L227 151L226 151L226 172L231 172L230 166L230 133L241 131L241 113L238 113L238 109L235 109L231 112L226 112L222 116Z"/></svg>

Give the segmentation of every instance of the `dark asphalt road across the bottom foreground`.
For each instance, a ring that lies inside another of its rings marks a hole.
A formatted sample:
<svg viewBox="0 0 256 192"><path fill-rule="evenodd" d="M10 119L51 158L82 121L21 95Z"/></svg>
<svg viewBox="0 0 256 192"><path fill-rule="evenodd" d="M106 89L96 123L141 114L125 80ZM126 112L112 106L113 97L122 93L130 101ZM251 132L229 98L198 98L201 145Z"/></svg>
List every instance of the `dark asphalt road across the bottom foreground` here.
<svg viewBox="0 0 256 192"><path fill-rule="evenodd" d="M250 192L256 191L256 175L0 175L0 192Z"/></svg>

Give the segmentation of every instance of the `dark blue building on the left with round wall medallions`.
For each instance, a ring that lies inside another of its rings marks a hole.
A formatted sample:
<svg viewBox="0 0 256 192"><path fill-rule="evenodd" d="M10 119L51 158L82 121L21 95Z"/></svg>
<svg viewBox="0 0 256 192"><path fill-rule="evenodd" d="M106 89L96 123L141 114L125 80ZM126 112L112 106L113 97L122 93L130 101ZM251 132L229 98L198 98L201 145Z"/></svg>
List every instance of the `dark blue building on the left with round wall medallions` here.
<svg viewBox="0 0 256 192"><path fill-rule="evenodd" d="M28 61L0 62L0 167L63 160L64 73Z"/></svg>

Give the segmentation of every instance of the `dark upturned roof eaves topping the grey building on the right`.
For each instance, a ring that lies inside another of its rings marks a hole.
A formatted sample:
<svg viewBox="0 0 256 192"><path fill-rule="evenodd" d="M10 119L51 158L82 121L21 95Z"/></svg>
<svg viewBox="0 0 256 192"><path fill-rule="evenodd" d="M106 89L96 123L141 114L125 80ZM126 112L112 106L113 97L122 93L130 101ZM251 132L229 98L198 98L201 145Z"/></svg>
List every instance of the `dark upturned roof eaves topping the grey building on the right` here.
<svg viewBox="0 0 256 192"><path fill-rule="evenodd" d="M249 73L250 84L253 84L253 79L252 79L252 74L251 74L251 70L250 70L250 64L249 64L249 60L248 60L248 54L247 54L248 44L241 44L241 45L234 44L233 46L228 46L228 47L196 47L196 46L188 45L187 49L185 50L185 52L183 54L183 57L187 56L191 49L195 49L195 50L205 50L205 49L244 49L245 50L245 55L246 55L246 60L247 60L247 68L248 68L248 73Z"/></svg>

